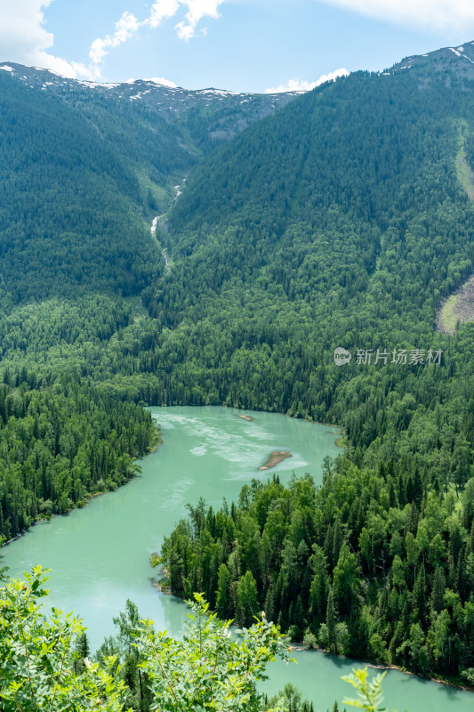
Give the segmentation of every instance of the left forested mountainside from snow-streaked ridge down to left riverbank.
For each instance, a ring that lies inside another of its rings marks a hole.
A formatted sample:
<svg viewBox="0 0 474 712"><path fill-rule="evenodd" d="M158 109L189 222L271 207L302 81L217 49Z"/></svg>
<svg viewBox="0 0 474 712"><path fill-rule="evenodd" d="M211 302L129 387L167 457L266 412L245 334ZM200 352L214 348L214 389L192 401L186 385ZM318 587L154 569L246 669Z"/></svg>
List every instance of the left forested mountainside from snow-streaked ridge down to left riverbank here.
<svg viewBox="0 0 474 712"><path fill-rule="evenodd" d="M294 96L0 65L0 540L122 484L156 441L96 373L126 371L150 322L140 294L165 267L152 216L206 151Z"/></svg>

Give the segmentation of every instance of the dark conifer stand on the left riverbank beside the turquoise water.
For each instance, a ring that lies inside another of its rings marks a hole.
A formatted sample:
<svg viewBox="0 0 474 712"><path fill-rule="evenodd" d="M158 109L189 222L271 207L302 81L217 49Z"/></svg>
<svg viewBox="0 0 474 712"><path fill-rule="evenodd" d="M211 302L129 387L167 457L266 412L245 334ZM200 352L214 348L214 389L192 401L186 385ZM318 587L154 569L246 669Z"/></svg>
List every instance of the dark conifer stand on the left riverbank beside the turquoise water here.
<svg viewBox="0 0 474 712"><path fill-rule="evenodd" d="M98 392L86 378L7 370L0 384L0 542L84 506L140 471L156 444L148 411Z"/></svg>

